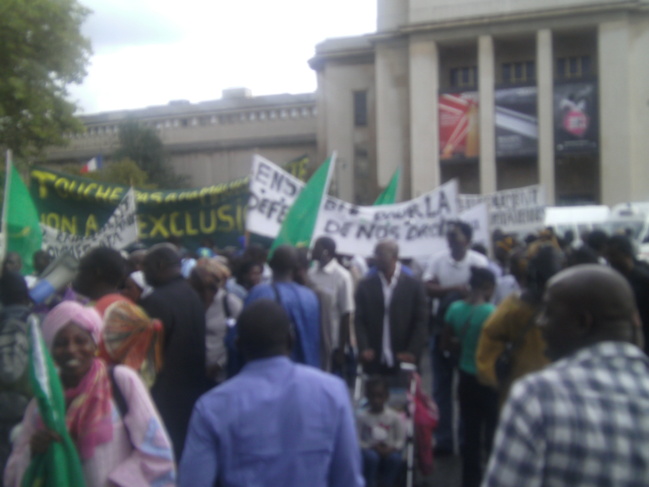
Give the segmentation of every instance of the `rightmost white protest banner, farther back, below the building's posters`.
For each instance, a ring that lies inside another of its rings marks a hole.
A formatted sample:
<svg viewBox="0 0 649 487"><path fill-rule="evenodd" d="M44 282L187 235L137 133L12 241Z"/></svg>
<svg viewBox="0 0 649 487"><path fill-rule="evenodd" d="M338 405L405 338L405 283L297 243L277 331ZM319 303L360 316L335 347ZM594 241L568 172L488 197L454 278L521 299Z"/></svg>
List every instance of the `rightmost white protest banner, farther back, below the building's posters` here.
<svg viewBox="0 0 649 487"><path fill-rule="evenodd" d="M489 228L508 233L536 232L543 227L545 193L541 185L506 189L488 195L460 195L459 211L486 203L489 208Z"/></svg>

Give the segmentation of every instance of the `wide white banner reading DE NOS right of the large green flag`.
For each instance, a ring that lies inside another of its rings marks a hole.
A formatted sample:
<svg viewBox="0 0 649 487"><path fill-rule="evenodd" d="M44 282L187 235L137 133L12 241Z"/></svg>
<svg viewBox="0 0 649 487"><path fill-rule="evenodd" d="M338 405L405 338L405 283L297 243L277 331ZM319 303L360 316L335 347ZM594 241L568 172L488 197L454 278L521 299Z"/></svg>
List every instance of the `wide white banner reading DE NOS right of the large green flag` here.
<svg viewBox="0 0 649 487"><path fill-rule="evenodd" d="M455 180L394 205L356 206L330 196L313 236L333 238L341 254L370 257L375 245L389 238L399 244L401 257L425 257L446 248L447 223L457 215Z"/></svg>

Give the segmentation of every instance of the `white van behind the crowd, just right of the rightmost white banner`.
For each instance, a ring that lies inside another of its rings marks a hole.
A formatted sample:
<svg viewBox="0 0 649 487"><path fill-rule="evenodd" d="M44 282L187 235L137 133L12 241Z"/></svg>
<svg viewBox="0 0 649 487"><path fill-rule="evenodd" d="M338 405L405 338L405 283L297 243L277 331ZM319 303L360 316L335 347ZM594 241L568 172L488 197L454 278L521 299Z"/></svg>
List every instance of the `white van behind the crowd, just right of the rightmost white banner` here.
<svg viewBox="0 0 649 487"><path fill-rule="evenodd" d="M604 229L609 221L611 210L605 205L585 206L547 206L545 208L545 227L551 227L555 235L563 238L572 230L573 245L581 243L584 233Z"/></svg>

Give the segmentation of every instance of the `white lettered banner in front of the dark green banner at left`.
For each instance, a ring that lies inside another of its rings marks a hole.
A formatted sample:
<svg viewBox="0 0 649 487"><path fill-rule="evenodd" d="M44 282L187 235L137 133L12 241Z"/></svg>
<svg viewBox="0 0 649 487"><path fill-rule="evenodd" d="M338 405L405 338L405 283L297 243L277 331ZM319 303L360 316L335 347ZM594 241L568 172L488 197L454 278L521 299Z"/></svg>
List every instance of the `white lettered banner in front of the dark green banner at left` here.
<svg viewBox="0 0 649 487"><path fill-rule="evenodd" d="M135 190L131 188L101 229L88 237L63 232L45 224L41 224L41 228L43 248L53 257L67 253L81 259L95 247L122 250L137 241Z"/></svg>

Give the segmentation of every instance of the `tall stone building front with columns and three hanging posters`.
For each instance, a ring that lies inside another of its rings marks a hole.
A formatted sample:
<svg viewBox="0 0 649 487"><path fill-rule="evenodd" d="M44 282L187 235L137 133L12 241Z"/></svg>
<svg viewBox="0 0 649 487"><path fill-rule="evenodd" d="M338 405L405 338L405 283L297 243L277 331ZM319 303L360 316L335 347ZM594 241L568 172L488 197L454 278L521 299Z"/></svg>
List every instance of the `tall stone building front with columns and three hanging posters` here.
<svg viewBox="0 0 649 487"><path fill-rule="evenodd" d="M649 200L649 1L378 0L319 44L318 159L367 203L543 185L548 204Z"/></svg>

